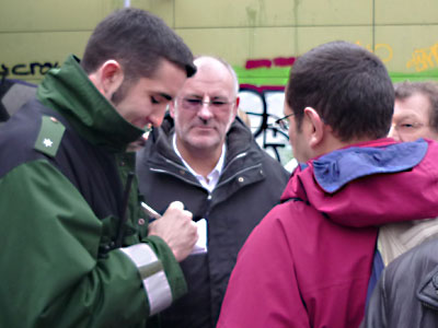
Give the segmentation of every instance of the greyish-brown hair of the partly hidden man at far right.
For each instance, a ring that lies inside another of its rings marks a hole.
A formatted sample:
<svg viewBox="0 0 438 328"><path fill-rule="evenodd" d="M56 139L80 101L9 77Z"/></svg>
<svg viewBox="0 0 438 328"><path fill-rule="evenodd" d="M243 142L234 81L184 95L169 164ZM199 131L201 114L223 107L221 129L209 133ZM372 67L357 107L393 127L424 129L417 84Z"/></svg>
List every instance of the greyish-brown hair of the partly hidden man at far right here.
<svg viewBox="0 0 438 328"><path fill-rule="evenodd" d="M395 99L404 101L414 94L422 94L429 99L429 126L438 132L438 82L399 82L394 84Z"/></svg>

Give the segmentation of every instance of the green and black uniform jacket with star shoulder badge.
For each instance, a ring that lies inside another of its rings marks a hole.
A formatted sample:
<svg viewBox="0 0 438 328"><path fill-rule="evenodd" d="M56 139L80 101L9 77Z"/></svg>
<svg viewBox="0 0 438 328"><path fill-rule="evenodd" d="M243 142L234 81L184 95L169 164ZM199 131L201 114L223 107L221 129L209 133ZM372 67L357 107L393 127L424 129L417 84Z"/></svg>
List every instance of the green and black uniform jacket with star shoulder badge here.
<svg viewBox="0 0 438 328"><path fill-rule="evenodd" d="M125 150L143 131L73 56L37 98L0 128L0 327L145 327L186 284L168 245L147 236L135 178L124 201Z"/></svg>

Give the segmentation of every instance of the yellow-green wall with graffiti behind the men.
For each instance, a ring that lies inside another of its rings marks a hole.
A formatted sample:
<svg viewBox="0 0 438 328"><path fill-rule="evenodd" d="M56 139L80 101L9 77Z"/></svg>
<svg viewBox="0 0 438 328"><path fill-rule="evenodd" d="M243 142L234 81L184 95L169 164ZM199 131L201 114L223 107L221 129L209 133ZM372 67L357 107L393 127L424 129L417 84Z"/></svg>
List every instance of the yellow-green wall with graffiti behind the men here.
<svg viewBox="0 0 438 328"><path fill-rule="evenodd" d="M438 80L437 0L131 0L161 16L195 54L237 70L242 108L266 148L285 136L263 121L281 115L283 86L296 57L335 39L374 51L394 81ZM81 57L99 21L126 0L3 0L0 77L38 82L69 54ZM280 139L278 139L280 138ZM287 142L286 142L287 143Z"/></svg>

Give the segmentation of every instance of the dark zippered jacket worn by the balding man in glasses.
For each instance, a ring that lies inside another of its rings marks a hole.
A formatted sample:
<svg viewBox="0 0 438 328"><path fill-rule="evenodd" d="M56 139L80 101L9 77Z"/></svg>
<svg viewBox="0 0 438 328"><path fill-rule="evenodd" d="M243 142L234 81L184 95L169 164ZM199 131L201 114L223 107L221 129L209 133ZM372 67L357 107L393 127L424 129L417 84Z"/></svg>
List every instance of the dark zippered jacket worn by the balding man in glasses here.
<svg viewBox="0 0 438 328"><path fill-rule="evenodd" d="M137 157L140 192L162 212L182 201L194 220L207 220L208 253L191 255L181 266L188 294L161 315L163 327L215 327L238 253L251 231L278 203L289 174L254 141L239 119L227 134L223 171L208 192L173 150L168 115Z"/></svg>

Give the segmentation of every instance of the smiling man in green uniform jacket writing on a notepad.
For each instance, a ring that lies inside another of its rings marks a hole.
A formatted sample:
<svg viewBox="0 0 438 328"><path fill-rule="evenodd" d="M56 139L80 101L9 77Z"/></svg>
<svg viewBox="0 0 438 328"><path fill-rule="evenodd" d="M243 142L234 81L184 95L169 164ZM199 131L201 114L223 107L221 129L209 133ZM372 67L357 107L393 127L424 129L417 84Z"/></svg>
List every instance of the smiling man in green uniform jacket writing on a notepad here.
<svg viewBox="0 0 438 328"><path fill-rule="evenodd" d="M0 327L145 327L186 291L173 202L148 231L129 143L195 72L157 16L117 11L0 128Z"/></svg>

